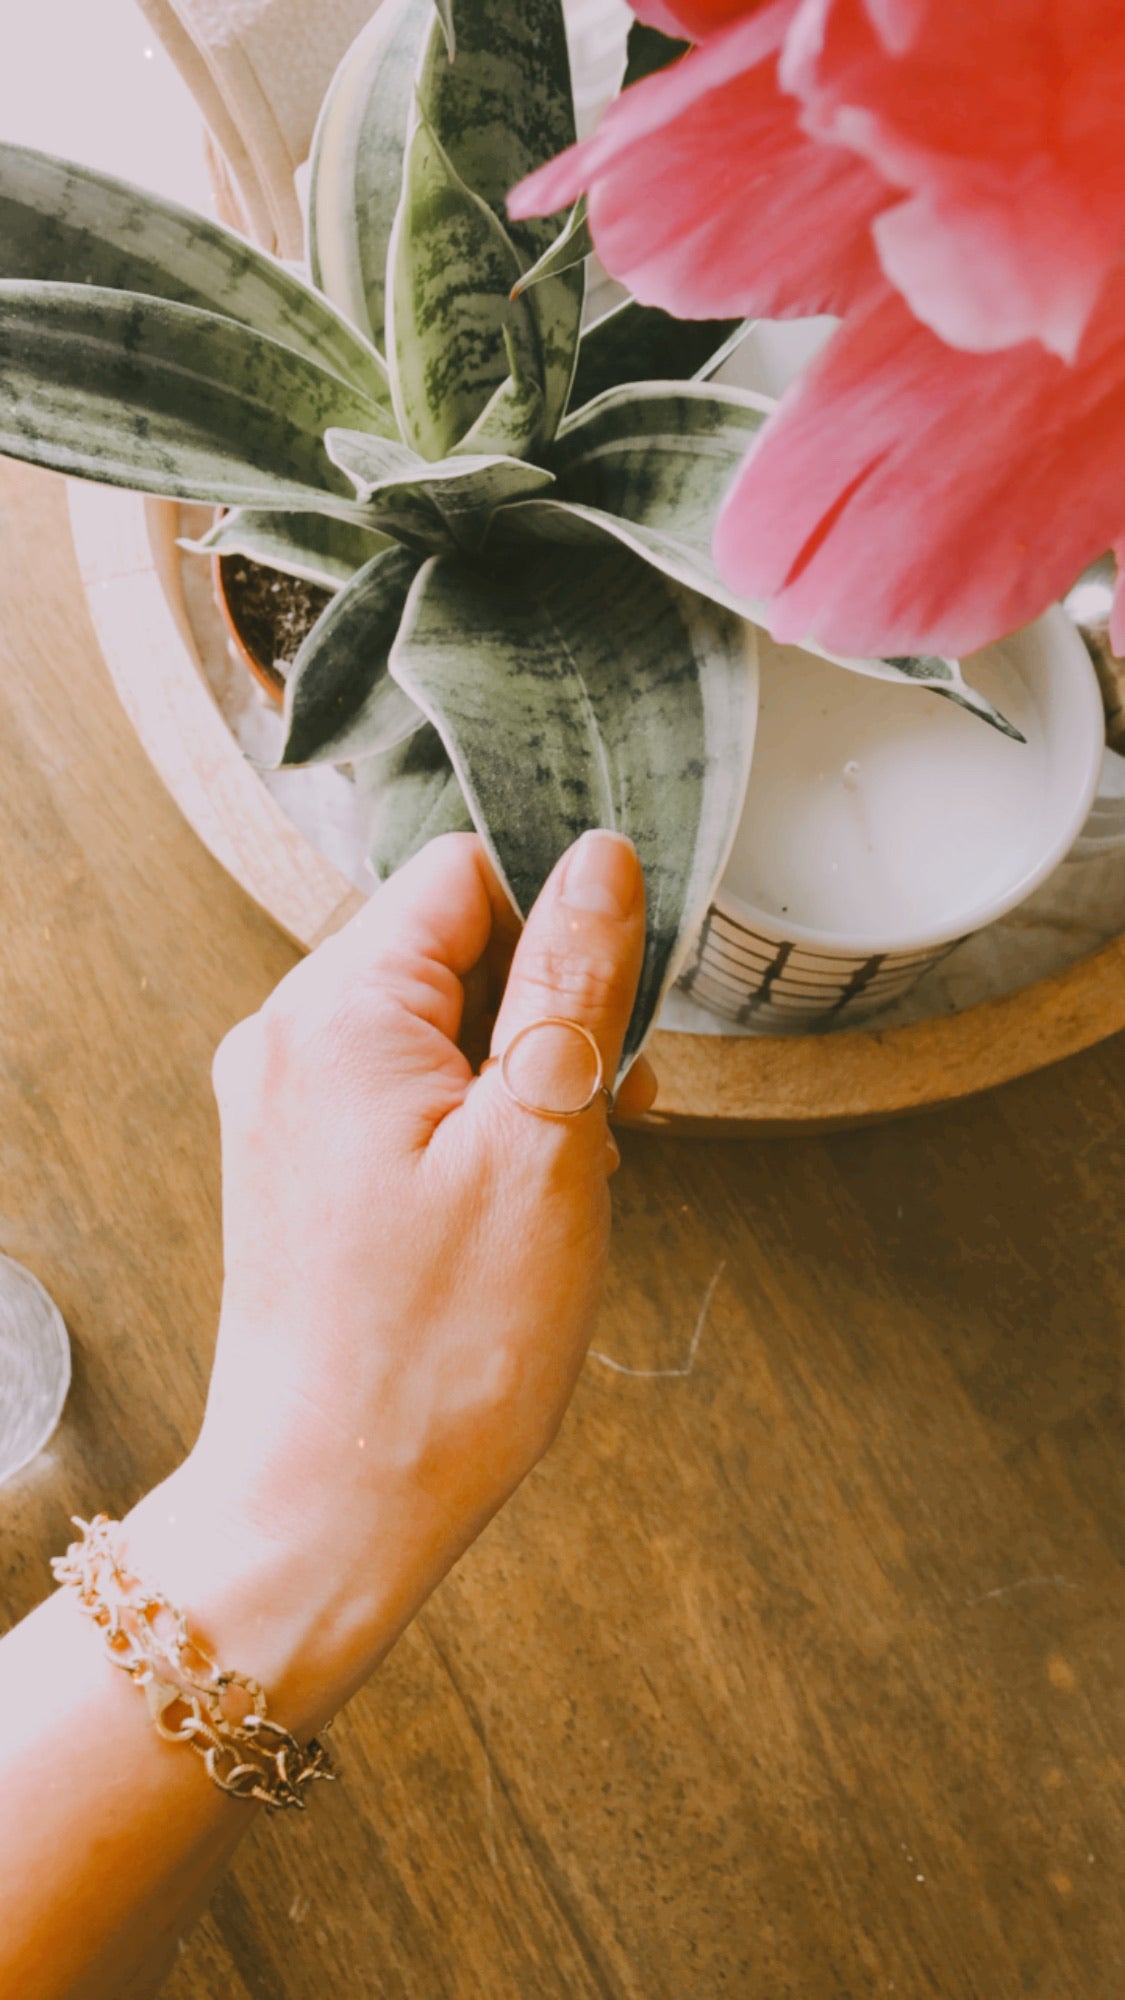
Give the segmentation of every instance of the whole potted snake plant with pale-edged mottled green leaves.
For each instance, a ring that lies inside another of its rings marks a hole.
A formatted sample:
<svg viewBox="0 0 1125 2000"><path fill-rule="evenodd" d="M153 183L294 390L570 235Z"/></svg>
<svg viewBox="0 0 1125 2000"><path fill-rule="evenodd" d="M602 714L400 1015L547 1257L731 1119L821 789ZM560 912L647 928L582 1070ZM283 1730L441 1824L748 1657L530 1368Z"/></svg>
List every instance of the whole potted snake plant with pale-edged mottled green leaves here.
<svg viewBox="0 0 1125 2000"><path fill-rule="evenodd" d="M635 70L677 52L639 30ZM583 212L504 206L573 138L560 0L384 0L320 116L308 280L0 146L0 452L216 502L200 546L334 592L282 764L352 768L376 874L476 826L526 912L587 826L631 834L629 1062L747 784L755 608L711 538L767 404L711 380L731 324L627 300L583 330ZM999 720L953 662L849 664Z"/></svg>

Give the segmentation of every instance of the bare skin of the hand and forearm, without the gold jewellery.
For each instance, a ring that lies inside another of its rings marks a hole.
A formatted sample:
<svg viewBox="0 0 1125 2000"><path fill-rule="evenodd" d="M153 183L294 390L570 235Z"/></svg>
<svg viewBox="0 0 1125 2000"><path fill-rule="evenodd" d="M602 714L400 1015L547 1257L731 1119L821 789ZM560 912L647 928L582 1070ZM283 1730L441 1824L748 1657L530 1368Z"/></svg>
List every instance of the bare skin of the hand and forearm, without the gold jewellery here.
<svg viewBox="0 0 1125 2000"><path fill-rule="evenodd" d="M645 940L629 842L587 834L522 936L480 842L432 842L224 1040L226 1280L186 1462L130 1568L306 1740L554 1438L591 1342L619 1164L605 1100L520 1110L480 1056L528 1022L619 1064ZM514 952L514 956L512 956ZM498 1012L496 1012L498 1002ZM540 1028L516 1088L579 1102ZM645 1110L635 1064L619 1104ZM152 1994L258 1808L160 1742L74 1592L0 1642L0 1992ZM314 1810L330 1810L316 1788Z"/></svg>

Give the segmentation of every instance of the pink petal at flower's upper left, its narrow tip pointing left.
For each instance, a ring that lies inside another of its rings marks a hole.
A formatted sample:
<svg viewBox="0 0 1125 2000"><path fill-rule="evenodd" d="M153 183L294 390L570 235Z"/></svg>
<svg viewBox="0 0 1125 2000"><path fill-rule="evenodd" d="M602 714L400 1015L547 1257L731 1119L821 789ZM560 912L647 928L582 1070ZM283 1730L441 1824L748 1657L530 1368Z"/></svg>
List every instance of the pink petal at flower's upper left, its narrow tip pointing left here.
<svg viewBox="0 0 1125 2000"><path fill-rule="evenodd" d="M607 270L683 318L845 312L879 278L871 220L887 190L861 160L809 142L777 88L795 4L777 0L627 90L593 140L516 188L510 212L550 212L587 186Z"/></svg>

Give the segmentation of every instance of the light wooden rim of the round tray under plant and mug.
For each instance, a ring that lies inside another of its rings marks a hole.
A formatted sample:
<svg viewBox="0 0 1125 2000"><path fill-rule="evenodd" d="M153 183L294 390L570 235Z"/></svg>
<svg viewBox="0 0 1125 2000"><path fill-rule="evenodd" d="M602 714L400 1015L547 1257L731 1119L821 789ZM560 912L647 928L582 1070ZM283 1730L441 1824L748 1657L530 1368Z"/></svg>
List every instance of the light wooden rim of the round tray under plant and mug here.
<svg viewBox="0 0 1125 2000"><path fill-rule="evenodd" d="M362 904L242 756L194 648L176 508L72 482L94 626L124 708L172 798L236 882L306 950ZM1125 936L1023 992L905 1028L759 1038L657 1034L651 1128L827 1132L933 1110L1125 1028Z"/></svg>

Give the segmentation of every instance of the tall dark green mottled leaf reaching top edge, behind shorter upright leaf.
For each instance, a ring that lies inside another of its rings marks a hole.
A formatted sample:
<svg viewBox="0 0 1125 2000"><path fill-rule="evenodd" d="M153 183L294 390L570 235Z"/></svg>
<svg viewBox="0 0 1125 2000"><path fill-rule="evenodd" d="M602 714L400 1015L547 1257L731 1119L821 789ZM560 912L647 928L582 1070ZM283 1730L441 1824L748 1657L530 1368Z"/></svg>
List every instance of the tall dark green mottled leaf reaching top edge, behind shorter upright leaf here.
<svg viewBox="0 0 1125 2000"><path fill-rule="evenodd" d="M460 180L478 194L518 252L538 264L558 234L546 216L508 222L510 190L575 140L575 100L560 0L448 0L456 60L432 34L418 94ZM528 294L538 334L544 434L552 436L571 396L587 278L581 264L544 278Z"/></svg>

